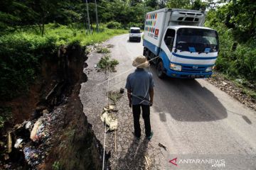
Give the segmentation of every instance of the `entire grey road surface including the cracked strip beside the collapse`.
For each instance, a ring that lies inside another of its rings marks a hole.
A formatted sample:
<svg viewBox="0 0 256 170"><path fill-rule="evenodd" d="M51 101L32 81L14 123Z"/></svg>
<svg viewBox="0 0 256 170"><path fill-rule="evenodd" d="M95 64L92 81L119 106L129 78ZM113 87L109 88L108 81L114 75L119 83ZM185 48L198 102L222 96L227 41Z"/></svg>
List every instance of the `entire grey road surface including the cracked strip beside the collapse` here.
<svg viewBox="0 0 256 170"><path fill-rule="evenodd" d="M128 35L116 36L103 44L114 45L111 56L119 61L117 72L110 74L109 91L124 88L127 75L134 71L132 60L142 55L142 42L128 42ZM95 64L102 54L88 56L84 72L88 81L82 84L80 99L84 113L98 140L104 143L105 126L100 120L106 105L107 81L104 72L97 72ZM110 154L111 169L174 169L169 161L183 159L225 159L225 167L212 164L178 164L178 169L255 169L256 114L234 98L220 91L204 79L164 79L153 73L154 105L151 107L151 128L154 136L134 139L132 109L127 95L117 102L118 119L115 150L114 132L106 134L106 152ZM102 84L102 82L105 82ZM159 143L166 146L159 147ZM149 160L146 157L149 157ZM242 162L241 162L242 160ZM148 163L149 162L149 165Z"/></svg>

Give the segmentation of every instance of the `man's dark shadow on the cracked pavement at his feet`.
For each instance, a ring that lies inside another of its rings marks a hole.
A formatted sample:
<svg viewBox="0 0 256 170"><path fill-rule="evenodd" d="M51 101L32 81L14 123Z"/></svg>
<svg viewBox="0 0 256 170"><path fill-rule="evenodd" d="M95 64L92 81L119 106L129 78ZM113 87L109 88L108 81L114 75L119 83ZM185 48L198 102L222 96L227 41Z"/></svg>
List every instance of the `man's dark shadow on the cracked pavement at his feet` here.
<svg viewBox="0 0 256 170"><path fill-rule="evenodd" d="M129 170L129 169L142 169L144 167L146 148L148 147L149 140L144 140L139 142L134 137L132 144L129 146L129 149L125 156L118 160L118 169Z"/></svg>

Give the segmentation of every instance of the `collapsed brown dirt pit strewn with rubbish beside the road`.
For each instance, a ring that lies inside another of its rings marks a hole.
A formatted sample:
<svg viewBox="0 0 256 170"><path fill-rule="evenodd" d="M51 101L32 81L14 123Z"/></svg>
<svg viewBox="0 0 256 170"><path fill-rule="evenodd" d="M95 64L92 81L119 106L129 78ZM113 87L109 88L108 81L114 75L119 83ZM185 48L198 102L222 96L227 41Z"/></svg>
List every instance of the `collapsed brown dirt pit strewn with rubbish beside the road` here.
<svg viewBox="0 0 256 170"><path fill-rule="evenodd" d="M0 169L102 169L102 146L78 97L80 84L87 81L82 73L86 59L80 45L60 47L58 57L42 61L41 79L29 94L6 103L18 118L3 131L1 149L5 154L1 155ZM38 140L32 142L29 136L38 118L43 126L37 131ZM25 129L27 122L23 120L31 120L31 128ZM12 128L14 123L22 124ZM11 132L11 153L7 152L7 130ZM23 142L16 149L18 138Z"/></svg>

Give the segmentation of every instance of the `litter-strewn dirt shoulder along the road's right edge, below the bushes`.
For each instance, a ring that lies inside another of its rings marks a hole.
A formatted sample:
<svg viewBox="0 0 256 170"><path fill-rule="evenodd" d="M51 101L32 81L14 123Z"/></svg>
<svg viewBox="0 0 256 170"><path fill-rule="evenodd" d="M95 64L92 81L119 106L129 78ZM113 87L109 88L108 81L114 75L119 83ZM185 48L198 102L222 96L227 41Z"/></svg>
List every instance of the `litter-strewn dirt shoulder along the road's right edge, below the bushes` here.
<svg viewBox="0 0 256 170"><path fill-rule="evenodd" d="M256 100L245 94L243 89L235 85L233 81L225 79L222 74L214 72L213 76L206 80L218 87L218 89L225 91L227 94L240 101L240 103L256 111ZM252 88L255 89L253 86Z"/></svg>

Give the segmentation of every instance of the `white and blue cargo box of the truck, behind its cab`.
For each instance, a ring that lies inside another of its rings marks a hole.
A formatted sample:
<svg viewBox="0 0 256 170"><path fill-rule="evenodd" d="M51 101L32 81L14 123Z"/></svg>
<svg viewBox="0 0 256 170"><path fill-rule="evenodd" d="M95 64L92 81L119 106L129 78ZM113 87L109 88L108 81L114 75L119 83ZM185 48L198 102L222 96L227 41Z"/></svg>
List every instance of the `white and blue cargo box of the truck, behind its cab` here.
<svg viewBox="0 0 256 170"><path fill-rule="evenodd" d="M151 52L157 55L167 26L203 26L205 18L205 11L177 8L162 8L146 13L144 46L151 47Z"/></svg>

